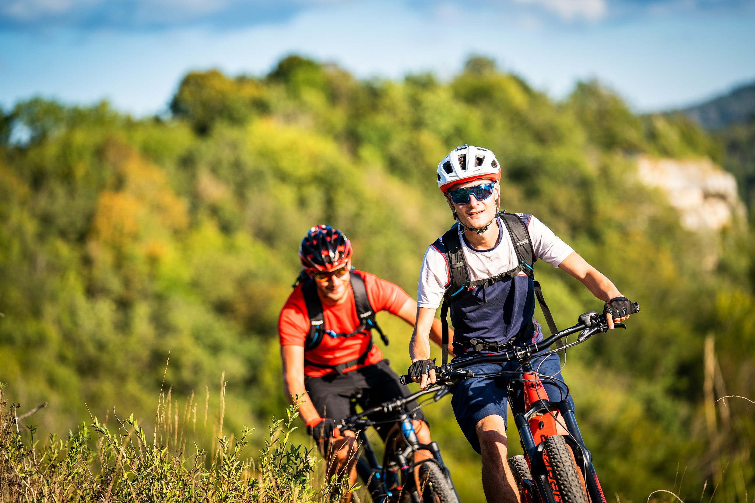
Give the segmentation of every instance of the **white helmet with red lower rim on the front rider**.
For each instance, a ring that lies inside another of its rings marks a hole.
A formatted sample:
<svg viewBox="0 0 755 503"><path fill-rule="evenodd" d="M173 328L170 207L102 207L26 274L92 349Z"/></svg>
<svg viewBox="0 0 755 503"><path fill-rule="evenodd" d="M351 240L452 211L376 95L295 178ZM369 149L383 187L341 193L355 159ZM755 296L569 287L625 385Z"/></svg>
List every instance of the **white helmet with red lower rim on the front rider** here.
<svg viewBox="0 0 755 503"><path fill-rule="evenodd" d="M438 164L438 188L444 194L457 183L479 178L501 181L501 166L488 149L464 144L451 150Z"/></svg>

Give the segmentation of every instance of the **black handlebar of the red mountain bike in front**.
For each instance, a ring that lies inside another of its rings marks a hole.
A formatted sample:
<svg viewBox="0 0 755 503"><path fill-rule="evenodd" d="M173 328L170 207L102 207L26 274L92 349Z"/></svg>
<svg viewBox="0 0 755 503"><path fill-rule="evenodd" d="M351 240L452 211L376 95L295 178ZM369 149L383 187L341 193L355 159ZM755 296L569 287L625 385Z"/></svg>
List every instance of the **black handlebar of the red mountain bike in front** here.
<svg viewBox="0 0 755 503"><path fill-rule="evenodd" d="M632 304L632 311L628 314L635 313L639 313L639 304L637 304L636 302ZM627 326L622 323L616 323L614 324L614 327L627 328ZM466 372L460 372L458 369L468 367L475 363L507 363L513 360L524 362L526 360L532 359L532 357L534 357L540 351L544 351L545 349L550 348L550 345L552 345L557 340L563 339L566 336L570 336L572 335L572 333L581 332L579 334L577 342L575 342L575 344L581 344L587 339L590 339L590 337L592 337L596 333L607 332L608 330L609 324L603 314L599 314L597 311L587 311L586 313L580 314L580 316L578 317L578 324L576 324L574 327L565 328L564 330L556 332L552 336L540 342L514 346L513 348L510 348L503 353L485 354L479 357L446 363L445 365L442 365L440 367L435 367L435 373L438 377L455 376L466 379L467 377L473 377L472 375L470 375L471 371L467 370ZM401 376L399 379L401 380L402 385L407 385L409 382L414 382L414 379L411 379L411 376L409 376L408 374Z"/></svg>

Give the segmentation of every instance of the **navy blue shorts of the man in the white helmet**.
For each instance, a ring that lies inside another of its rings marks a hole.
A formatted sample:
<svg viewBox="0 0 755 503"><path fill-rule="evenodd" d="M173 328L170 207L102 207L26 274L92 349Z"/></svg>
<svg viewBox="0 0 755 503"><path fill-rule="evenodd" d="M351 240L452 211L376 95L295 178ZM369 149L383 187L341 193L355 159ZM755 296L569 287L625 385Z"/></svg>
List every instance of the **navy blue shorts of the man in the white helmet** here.
<svg viewBox="0 0 755 503"><path fill-rule="evenodd" d="M455 361L459 361L455 359ZM541 364L542 362L542 364ZM568 399L572 406L574 402L561 377L561 361L558 355L550 354L547 357L537 357L532 359L532 368L538 370L541 375L543 387L548 394L548 400L556 402ZM501 370L516 371L519 370L519 363L479 363L466 367L471 369L475 375L481 373L501 372ZM546 379L544 376L553 376L554 379ZM488 416L501 416L504 422L507 422L507 386L510 379L519 379L521 375L504 374L503 376L491 377L474 377L459 382L455 388L451 389L454 397L451 399L451 406L454 408L456 422L459 423L464 436L472 444L472 448L479 454L479 440L477 439L477 423ZM556 380L559 379L559 380ZM516 411L524 408L524 397L522 396L522 386L519 382L513 382L513 407ZM508 425L507 425L508 428Z"/></svg>

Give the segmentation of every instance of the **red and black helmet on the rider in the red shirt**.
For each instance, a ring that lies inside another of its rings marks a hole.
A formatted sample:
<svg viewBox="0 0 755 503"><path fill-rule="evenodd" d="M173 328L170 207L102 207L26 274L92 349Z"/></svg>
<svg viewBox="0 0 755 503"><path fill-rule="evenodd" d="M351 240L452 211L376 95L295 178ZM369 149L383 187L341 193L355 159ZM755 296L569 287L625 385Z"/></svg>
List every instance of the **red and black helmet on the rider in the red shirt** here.
<svg viewBox="0 0 755 503"><path fill-rule="evenodd" d="M311 271L333 271L350 258L350 241L343 232L330 225L310 228L299 245L301 265Z"/></svg>

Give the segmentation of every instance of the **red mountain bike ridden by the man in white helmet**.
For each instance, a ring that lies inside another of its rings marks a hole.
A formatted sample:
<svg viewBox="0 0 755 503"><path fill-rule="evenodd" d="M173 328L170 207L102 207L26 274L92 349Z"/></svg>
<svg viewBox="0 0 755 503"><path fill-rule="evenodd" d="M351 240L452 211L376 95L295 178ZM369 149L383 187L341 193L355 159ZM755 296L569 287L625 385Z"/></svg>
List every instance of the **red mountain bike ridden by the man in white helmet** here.
<svg viewBox="0 0 755 503"><path fill-rule="evenodd" d="M639 305L633 304L628 314L639 312ZM614 327L627 328L624 324ZM582 314L574 327L561 330L541 342L514 346L498 354L486 354L466 360L447 363L436 367L438 379L436 385L453 387L461 379L473 379L472 370L464 368L475 363L519 362L520 379L510 379L508 400L511 407L516 430L522 440L525 454L509 459L522 501L527 503L606 503L606 496L598 481L593 467L590 451L577 427L574 409L569 400L550 401L543 388L542 376L532 368L530 361L554 351L547 351L559 339L573 333L579 333L577 340L559 348L561 351L581 344L596 333L609 330L604 314L590 311ZM501 373L503 374L503 373ZM491 376L486 373L486 376ZM411 382L409 376L402 376L402 382ZM513 385L518 382L524 391L525 406L522 410L515 408ZM569 434L559 435L556 430L559 422Z"/></svg>

